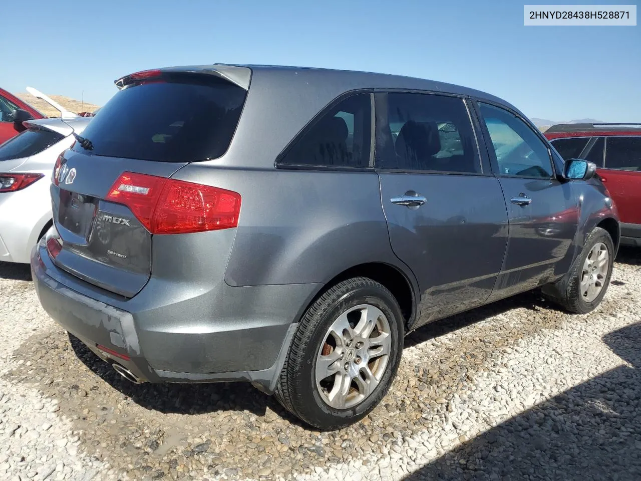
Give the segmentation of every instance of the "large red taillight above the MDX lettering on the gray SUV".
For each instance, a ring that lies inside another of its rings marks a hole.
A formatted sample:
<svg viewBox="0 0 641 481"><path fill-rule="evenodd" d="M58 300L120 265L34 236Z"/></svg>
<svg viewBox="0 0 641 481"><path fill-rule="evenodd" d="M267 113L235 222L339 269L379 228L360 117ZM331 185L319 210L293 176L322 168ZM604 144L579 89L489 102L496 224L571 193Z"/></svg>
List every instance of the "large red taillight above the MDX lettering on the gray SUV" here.
<svg viewBox="0 0 641 481"><path fill-rule="evenodd" d="M106 199L129 207L153 234L237 227L241 202L231 190L131 172L113 183Z"/></svg>

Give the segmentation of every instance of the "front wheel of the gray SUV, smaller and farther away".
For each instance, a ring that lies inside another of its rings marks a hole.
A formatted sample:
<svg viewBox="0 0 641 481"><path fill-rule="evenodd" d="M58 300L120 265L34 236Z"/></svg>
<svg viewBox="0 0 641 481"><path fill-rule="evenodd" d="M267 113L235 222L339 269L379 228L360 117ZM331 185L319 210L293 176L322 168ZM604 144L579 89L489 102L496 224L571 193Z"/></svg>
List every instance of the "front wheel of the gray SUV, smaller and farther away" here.
<svg viewBox="0 0 641 481"><path fill-rule="evenodd" d="M587 314L594 310L608 290L613 264L612 237L608 231L595 227L570 269L567 289L553 296L552 300L574 314Z"/></svg>

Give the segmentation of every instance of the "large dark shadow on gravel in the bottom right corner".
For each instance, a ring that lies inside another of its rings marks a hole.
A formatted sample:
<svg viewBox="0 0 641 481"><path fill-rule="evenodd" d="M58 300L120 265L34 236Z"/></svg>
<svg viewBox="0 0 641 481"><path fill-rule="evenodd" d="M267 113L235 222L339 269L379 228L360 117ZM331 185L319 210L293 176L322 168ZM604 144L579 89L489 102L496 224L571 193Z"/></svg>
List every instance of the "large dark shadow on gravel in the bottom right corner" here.
<svg viewBox="0 0 641 481"><path fill-rule="evenodd" d="M641 479L641 323L603 341L629 366L523 412L406 481Z"/></svg>

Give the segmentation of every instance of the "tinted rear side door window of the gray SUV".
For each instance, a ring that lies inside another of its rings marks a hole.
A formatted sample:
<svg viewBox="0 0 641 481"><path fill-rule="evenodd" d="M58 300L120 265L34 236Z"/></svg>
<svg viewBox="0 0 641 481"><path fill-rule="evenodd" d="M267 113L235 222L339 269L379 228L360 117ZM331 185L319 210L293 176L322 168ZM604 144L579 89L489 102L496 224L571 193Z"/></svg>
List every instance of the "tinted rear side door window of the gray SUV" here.
<svg viewBox="0 0 641 481"><path fill-rule="evenodd" d="M481 172L476 139L463 99L390 93L378 117L381 167Z"/></svg>

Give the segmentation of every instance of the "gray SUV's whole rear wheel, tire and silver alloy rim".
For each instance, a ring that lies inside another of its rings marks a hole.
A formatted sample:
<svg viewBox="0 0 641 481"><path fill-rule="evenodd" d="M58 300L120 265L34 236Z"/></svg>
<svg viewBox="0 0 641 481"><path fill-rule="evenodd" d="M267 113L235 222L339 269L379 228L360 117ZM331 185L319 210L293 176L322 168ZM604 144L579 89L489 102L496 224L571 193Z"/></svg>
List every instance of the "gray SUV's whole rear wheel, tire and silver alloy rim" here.
<svg viewBox="0 0 641 481"><path fill-rule="evenodd" d="M276 398L321 430L356 423L392 384L403 336L403 315L388 289L365 277L339 282L301 319Z"/></svg>

